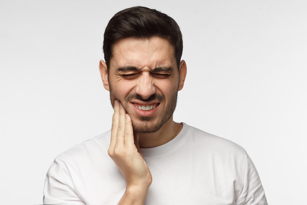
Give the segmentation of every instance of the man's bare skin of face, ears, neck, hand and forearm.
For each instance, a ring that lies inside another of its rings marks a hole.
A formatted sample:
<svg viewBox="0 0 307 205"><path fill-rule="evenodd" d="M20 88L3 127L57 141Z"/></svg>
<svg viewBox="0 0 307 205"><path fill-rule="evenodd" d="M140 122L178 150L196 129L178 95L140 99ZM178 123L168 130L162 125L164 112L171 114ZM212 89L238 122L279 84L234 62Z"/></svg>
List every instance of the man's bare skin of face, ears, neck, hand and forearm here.
<svg viewBox="0 0 307 205"><path fill-rule="evenodd" d="M126 179L119 204L144 204L152 176L139 148L165 144L180 132L173 112L186 64L182 60L178 70L174 47L163 38L129 37L114 44L110 68L101 60L99 69L114 107L108 154Z"/></svg>

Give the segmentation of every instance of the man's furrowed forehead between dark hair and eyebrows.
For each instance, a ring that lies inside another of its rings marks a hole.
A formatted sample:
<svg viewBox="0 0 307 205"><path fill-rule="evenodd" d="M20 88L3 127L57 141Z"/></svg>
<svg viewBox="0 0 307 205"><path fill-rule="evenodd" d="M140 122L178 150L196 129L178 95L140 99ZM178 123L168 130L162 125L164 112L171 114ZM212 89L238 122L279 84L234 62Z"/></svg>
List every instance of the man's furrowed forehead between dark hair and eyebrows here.
<svg viewBox="0 0 307 205"><path fill-rule="evenodd" d="M176 66L174 46L161 37L123 38L115 42L112 53L111 68L134 66L139 69L153 69L159 66Z"/></svg>

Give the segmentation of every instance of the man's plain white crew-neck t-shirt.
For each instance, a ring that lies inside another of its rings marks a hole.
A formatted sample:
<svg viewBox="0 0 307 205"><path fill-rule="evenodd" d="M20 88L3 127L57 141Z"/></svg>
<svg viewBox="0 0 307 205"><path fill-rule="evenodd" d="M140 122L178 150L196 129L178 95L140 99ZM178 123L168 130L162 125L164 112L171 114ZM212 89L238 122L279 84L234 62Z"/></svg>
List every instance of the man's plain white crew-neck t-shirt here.
<svg viewBox="0 0 307 205"><path fill-rule="evenodd" d="M153 177L152 204L267 204L256 168L239 145L188 126L170 142L141 148ZM107 150L111 131L60 154L50 166L44 204L117 204L126 182Z"/></svg>

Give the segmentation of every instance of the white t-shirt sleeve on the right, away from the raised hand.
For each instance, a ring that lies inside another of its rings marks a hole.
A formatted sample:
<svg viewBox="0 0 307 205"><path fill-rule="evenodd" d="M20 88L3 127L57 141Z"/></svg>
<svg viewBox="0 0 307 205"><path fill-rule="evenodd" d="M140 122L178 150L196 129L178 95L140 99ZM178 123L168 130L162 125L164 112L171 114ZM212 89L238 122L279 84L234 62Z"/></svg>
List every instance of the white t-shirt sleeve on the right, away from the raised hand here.
<svg viewBox="0 0 307 205"><path fill-rule="evenodd" d="M236 205L268 205L258 172L248 155L244 171L244 185L236 200Z"/></svg>

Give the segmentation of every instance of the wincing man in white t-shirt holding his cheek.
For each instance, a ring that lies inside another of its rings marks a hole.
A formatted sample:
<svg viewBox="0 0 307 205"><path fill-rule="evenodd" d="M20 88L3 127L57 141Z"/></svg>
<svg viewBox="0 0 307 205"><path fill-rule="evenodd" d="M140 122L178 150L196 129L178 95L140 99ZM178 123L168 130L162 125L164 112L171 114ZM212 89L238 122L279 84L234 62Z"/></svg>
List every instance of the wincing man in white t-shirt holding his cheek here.
<svg viewBox="0 0 307 205"><path fill-rule="evenodd" d="M99 64L111 131L54 160L45 204L267 204L243 148L173 121L187 72L182 48L179 26L157 10L111 18Z"/></svg>

